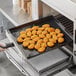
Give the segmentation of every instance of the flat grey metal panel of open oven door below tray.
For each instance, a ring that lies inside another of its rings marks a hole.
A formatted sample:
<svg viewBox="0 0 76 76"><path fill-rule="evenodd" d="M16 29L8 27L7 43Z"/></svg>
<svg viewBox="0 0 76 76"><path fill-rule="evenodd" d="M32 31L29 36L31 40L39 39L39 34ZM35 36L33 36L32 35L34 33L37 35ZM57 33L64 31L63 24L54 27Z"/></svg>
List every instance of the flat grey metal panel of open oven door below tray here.
<svg viewBox="0 0 76 76"><path fill-rule="evenodd" d="M60 49L51 50L45 54L29 59L29 63L38 71L44 72L69 58Z"/></svg>

